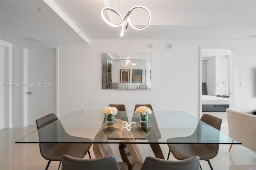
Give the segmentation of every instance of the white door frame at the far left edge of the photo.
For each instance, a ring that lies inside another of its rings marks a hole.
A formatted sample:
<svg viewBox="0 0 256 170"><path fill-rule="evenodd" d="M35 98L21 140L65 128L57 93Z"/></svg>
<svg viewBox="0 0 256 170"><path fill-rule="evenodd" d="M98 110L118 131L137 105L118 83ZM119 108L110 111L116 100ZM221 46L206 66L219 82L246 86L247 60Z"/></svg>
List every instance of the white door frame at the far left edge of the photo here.
<svg viewBox="0 0 256 170"><path fill-rule="evenodd" d="M4 47L4 83L9 86L4 88L4 128L12 128L12 43L0 40Z"/></svg>

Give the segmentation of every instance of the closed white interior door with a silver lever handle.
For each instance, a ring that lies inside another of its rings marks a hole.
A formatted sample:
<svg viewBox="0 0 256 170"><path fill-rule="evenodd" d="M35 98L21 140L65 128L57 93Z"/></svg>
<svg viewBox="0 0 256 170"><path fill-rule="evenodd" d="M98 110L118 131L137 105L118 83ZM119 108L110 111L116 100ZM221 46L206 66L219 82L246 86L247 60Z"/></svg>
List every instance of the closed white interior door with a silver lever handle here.
<svg viewBox="0 0 256 170"><path fill-rule="evenodd" d="M28 50L28 126L56 112L56 50Z"/></svg>

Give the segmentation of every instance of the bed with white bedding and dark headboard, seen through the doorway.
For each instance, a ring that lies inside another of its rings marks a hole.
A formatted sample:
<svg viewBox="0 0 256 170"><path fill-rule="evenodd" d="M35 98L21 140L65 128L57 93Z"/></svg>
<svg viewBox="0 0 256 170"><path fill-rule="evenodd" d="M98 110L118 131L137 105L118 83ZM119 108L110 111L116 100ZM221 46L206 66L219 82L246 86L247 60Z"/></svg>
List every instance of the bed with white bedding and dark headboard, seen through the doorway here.
<svg viewBox="0 0 256 170"><path fill-rule="evenodd" d="M203 83L202 111L225 112L229 108L229 99L207 95L206 83Z"/></svg>

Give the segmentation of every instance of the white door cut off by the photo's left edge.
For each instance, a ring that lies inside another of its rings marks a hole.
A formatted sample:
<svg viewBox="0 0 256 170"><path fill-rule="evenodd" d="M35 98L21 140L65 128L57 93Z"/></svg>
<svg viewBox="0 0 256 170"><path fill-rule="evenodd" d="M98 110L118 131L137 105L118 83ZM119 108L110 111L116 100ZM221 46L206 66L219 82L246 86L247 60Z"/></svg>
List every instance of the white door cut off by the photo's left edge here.
<svg viewBox="0 0 256 170"><path fill-rule="evenodd" d="M5 49L4 47L1 46L0 52L0 115L1 115L1 119L0 119L0 129L5 128L5 111L4 111L4 103L5 103L5 97L4 97L4 58L5 58Z"/></svg>

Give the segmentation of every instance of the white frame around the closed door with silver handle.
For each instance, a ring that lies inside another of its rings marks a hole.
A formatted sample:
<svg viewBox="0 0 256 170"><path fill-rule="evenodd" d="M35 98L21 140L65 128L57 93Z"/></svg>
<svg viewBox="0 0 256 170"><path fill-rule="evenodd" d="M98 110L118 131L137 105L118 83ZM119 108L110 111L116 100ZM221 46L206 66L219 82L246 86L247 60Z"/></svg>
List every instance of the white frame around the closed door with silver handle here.
<svg viewBox="0 0 256 170"><path fill-rule="evenodd" d="M21 105L21 110L22 110L22 120L21 124L23 127L28 126L28 95L26 94L28 92L28 87L24 84L28 84L28 50L49 50L53 49L56 51L55 57L56 57L56 102L55 102L55 108L56 112L55 114L59 115L58 113L58 108L59 108L59 47L58 46L23 46L22 47L22 74L21 74L21 79L22 79L22 105Z"/></svg>

